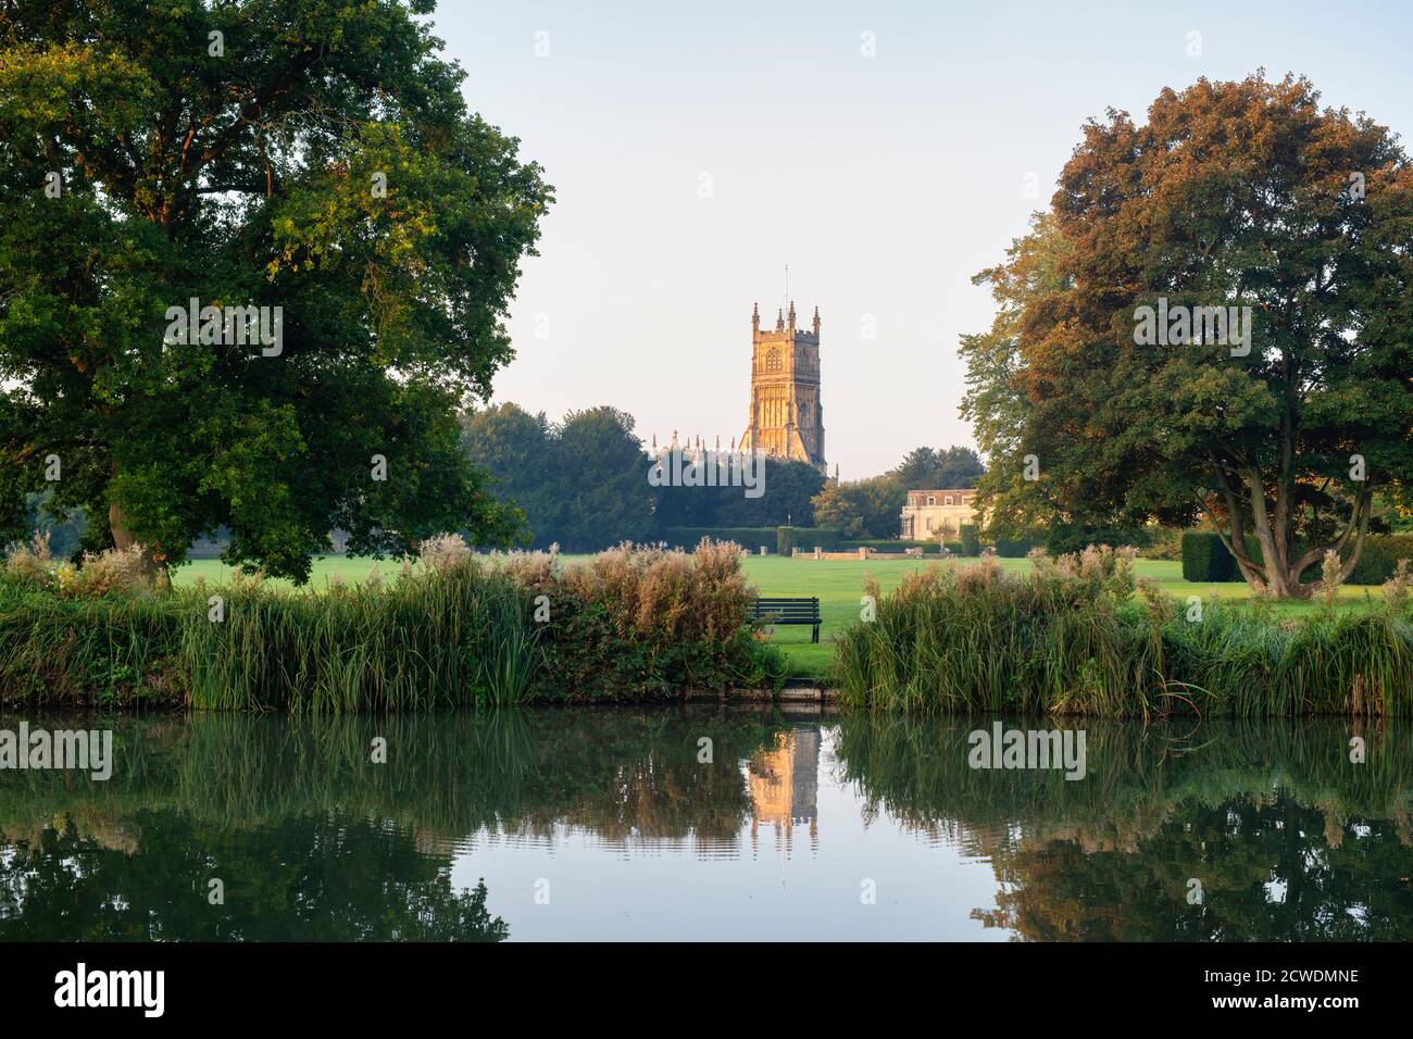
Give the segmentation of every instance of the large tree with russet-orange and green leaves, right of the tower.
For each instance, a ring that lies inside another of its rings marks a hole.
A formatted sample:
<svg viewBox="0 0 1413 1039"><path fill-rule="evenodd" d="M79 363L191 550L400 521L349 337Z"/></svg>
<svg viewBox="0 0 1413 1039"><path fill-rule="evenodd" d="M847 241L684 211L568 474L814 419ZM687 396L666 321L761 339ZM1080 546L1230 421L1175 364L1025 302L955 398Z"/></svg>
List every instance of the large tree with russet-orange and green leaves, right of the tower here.
<svg viewBox="0 0 1413 1039"><path fill-rule="evenodd" d="M965 409L993 509L1207 516L1255 589L1300 597L1330 548L1348 575L1375 493L1413 478L1413 167L1304 79L1091 122L981 278L1002 310L964 341Z"/></svg>

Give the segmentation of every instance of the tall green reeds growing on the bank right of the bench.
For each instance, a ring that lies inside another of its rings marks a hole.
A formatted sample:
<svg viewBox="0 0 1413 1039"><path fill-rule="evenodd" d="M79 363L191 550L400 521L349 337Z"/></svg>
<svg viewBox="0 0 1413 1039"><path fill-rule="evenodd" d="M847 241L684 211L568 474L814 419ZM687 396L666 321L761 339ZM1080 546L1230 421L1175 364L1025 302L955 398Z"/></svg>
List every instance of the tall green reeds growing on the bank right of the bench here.
<svg viewBox="0 0 1413 1039"><path fill-rule="evenodd" d="M917 575L880 599L875 621L839 636L841 701L1108 717L1413 714L1406 615L1276 622L1208 602L1194 622L1129 592L1118 578L1054 568Z"/></svg>

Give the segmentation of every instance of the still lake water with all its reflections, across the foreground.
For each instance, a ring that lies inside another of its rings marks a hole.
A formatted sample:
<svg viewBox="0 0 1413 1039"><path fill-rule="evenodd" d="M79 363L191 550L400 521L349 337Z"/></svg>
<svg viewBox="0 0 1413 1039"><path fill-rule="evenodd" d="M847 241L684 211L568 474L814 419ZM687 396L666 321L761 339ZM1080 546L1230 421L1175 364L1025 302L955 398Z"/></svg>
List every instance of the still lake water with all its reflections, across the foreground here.
<svg viewBox="0 0 1413 1039"><path fill-rule="evenodd" d="M114 761L0 770L6 941L1413 939L1399 724L1091 721L1067 780L991 718L21 720Z"/></svg>

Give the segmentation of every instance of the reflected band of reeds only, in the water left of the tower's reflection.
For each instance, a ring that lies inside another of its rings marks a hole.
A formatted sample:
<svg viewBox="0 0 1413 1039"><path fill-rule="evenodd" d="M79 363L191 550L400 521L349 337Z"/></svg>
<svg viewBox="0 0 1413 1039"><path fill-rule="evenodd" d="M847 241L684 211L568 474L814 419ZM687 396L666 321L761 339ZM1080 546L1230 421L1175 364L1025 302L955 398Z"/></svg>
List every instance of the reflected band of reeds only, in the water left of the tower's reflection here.
<svg viewBox="0 0 1413 1039"><path fill-rule="evenodd" d="M749 818L739 762L771 718L637 711L466 711L396 715L198 712L189 725L113 722L114 773L0 775L0 828L28 833L58 814L167 807L211 826L305 816L387 818L428 840L480 830L579 827L726 837ZM699 762L699 739L712 762ZM386 763L373 761L386 741Z"/></svg>

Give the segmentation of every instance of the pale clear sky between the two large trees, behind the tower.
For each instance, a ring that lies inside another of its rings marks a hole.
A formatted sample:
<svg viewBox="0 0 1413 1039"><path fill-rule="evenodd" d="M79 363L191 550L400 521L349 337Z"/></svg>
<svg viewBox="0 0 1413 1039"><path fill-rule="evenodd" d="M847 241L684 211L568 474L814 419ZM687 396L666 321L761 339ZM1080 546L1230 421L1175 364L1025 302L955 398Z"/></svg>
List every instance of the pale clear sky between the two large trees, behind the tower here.
<svg viewBox="0 0 1413 1039"><path fill-rule="evenodd" d="M644 441L725 444L746 421L752 303L773 322L788 263L801 321L818 304L824 324L831 471L974 444L957 342L993 308L969 278L1047 205L1087 117L1142 122L1164 86L1265 66L1407 137L1409 11L449 0L434 24L468 102L558 195L495 399L551 418L615 404Z"/></svg>

